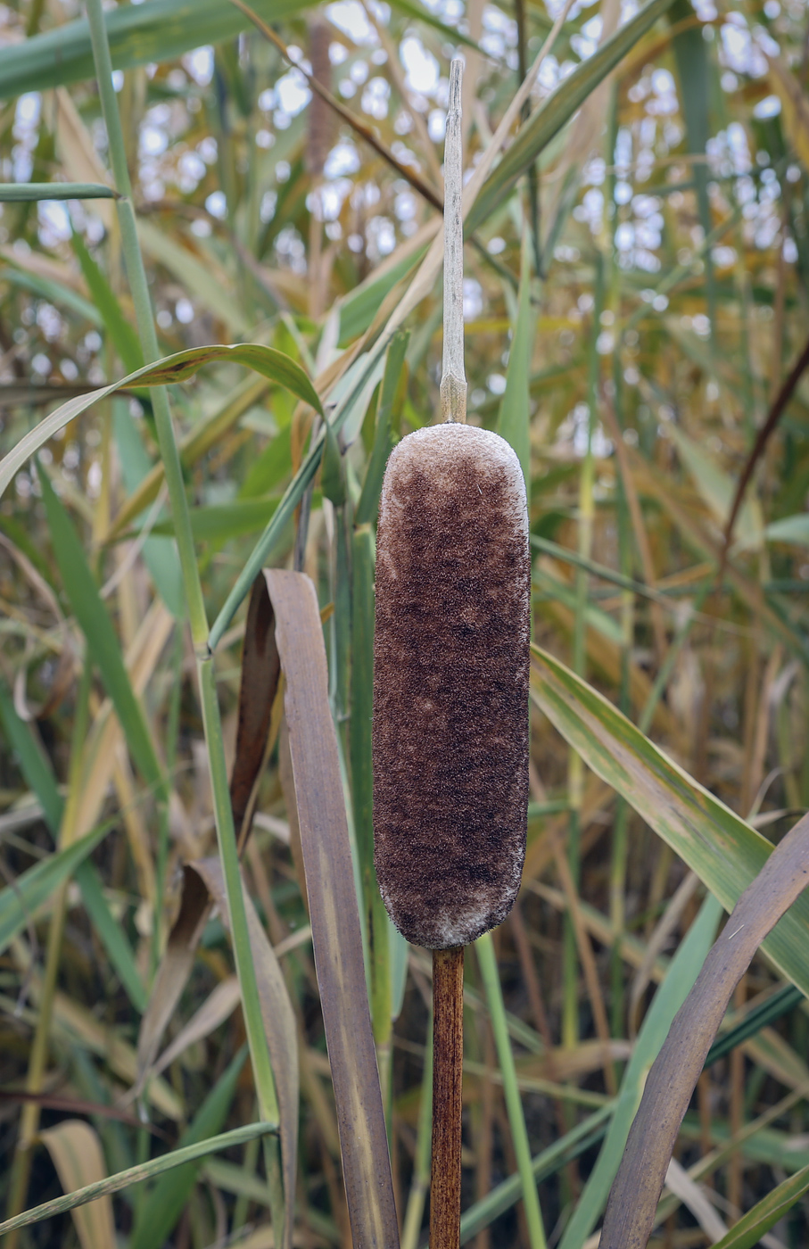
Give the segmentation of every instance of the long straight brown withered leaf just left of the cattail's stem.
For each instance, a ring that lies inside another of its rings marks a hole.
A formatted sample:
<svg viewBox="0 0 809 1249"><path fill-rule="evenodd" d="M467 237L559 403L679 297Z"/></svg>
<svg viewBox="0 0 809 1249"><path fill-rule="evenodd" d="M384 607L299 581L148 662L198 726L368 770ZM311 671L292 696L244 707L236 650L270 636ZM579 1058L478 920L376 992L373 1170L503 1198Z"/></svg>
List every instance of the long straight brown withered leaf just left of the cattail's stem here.
<svg viewBox="0 0 809 1249"><path fill-rule="evenodd" d="M353 1243L398 1249L391 1164L317 596L302 573L265 572L286 678L285 712L315 967L337 1104Z"/></svg>

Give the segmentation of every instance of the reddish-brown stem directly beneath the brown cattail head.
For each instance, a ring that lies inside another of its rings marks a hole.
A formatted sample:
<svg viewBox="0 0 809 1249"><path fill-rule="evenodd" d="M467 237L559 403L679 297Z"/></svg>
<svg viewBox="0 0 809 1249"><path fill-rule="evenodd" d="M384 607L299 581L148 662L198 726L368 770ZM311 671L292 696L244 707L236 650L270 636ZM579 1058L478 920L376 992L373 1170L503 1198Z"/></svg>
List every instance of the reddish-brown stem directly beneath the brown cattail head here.
<svg viewBox="0 0 809 1249"><path fill-rule="evenodd" d="M461 1244L463 945L433 950L433 1128L429 1249Z"/></svg>

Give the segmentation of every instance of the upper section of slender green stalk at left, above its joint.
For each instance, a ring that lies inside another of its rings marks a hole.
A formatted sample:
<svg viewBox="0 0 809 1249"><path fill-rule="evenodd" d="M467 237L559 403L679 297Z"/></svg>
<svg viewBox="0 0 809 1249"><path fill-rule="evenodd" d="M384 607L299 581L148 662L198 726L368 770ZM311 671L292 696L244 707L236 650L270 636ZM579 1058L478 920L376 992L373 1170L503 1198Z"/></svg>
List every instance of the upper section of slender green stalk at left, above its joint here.
<svg viewBox="0 0 809 1249"><path fill-rule="evenodd" d="M95 61L96 77L99 80L99 95L101 97L101 111L107 132L110 164L112 177L119 192L116 204L119 225L121 227L121 246L126 264L132 304L135 305L135 320L137 332L144 348L146 363L160 358L157 347L157 333L155 331L154 310L149 295L146 270L137 241L137 222L135 220L135 206L132 204L132 185L130 182L129 169L126 167L126 149L124 146L124 131L121 129L121 115L119 112L117 97L112 86L112 61L110 57L110 45L107 41L106 26L104 25L104 11L101 0L87 0L87 20L90 22L90 39L92 42L92 59ZM205 602L202 600L202 586L197 570L194 551L194 537L191 535L191 521L189 518L189 505L182 482L182 468L180 467L180 455L174 436L171 423L171 410L169 407L169 392L165 386L156 386L151 393L152 411L157 428L157 442L160 456L166 473L166 486L169 487L169 500L175 523L177 550L180 552L180 565L182 567L182 581L189 603L189 618L191 622L191 636L195 647L206 647L207 617L205 615Z"/></svg>

